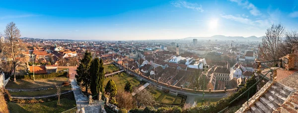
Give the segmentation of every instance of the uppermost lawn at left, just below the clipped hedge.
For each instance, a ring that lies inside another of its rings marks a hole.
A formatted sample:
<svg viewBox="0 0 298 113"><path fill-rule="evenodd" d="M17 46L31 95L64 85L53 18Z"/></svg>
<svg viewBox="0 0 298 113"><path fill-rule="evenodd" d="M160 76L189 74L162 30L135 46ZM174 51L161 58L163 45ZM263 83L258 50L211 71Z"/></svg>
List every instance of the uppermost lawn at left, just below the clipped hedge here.
<svg viewBox="0 0 298 113"><path fill-rule="evenodd" d="M12 89L37 88L37 87L53 86L55 84L58 85L58 84L62 84L65 81L67 81L66 76L47 78L47 79L36 79L35 81L30 79L16 79L16 82L9 80L9 82L5 87L12 88Z"/></svg>

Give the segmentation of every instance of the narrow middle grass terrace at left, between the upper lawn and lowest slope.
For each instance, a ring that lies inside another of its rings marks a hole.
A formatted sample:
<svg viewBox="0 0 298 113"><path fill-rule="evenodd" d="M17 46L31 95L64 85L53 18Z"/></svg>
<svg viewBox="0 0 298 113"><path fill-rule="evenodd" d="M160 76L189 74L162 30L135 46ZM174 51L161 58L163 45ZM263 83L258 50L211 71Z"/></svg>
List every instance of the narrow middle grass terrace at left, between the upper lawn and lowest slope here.
<svg viewBox="0 0 298 113"><path fill-rule="evenodd" d="M71 85L61 87L61 92L69 91L69 90L72 90ZM30 96L30 97L33 97L33 96L51 95L51 94L55 94L56 92L57 92L57 89L53 88L53 89L42 90L42 91L33 91L33 92L23 91L23 92L9 92L9 93L12 96Z"/></svg>

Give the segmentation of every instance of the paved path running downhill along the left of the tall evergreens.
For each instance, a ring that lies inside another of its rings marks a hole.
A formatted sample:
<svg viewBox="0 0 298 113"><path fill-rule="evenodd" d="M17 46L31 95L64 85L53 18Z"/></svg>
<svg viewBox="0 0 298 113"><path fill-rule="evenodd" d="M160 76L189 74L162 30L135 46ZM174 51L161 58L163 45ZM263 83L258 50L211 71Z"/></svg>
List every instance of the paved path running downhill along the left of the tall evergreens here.
<svg viewBox="0 0 298 113"><path fill-rule="evenodd" d="M82 107L85 109L85 113L99 113L101 109L101 104L92 104L89 105L88 98L84 96L77 86L75 81L76 67L68 67L70 73L70 80L72 81L72 90L74 91L75 103L77 110L80 110Z"/></svg>

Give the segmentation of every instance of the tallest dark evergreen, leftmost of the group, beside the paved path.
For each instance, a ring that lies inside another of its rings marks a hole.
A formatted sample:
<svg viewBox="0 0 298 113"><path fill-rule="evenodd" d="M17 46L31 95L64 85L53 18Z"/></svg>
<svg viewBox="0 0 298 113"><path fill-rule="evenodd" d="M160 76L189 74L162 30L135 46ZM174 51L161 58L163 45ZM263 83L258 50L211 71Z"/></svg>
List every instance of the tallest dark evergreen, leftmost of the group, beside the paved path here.
<svg viewBox="0 0 298 113"><path fill-rule="evenodd" d="M89 69L91 59L91 53L86 51L84 57L80 60L79 66L76 69L77 76L75 76L75 78L78 82L83 82L82 85L86 87L85 92L88 92L88 86L90 84Z"/></svg>

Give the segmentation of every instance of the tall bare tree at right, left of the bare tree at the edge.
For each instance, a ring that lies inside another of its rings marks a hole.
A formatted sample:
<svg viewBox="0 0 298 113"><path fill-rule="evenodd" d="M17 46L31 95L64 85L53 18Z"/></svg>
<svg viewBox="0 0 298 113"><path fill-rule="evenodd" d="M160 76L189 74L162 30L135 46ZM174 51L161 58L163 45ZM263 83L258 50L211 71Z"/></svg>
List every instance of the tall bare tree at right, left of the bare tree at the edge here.
<svg viewBox="0 0 298 113"><path fill-rule="evenodd" d="M266 35L259 45L258 56L261 61L277 60L282 57L282 38L285 28L282 24L272 24L266 31ZM269 66L274 66L277 62L267 63Z"/></svg>

